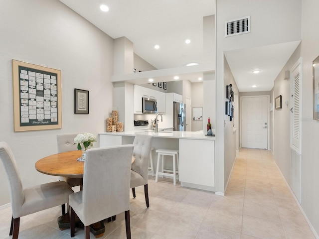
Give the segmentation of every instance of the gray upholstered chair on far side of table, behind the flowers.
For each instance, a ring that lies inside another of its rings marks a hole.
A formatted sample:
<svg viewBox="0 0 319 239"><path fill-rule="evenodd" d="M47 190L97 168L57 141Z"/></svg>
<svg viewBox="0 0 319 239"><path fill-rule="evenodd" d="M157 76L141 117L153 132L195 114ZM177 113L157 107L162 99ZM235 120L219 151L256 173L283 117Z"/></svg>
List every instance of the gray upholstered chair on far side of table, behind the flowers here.
<svg viewBox="0 0 319 239"><path fill-rule="evenodd" d="M78 150L77 145L74 144L74 138L78 135L78 133L61 133L56 135L56 141L58 145L58 153L69 152ZM61 181L65 181L71 187L79 186L82 184L82 180L80 178L67 178L60 177ZM61 205L62 214L65 214L65 204Z"/></svg>

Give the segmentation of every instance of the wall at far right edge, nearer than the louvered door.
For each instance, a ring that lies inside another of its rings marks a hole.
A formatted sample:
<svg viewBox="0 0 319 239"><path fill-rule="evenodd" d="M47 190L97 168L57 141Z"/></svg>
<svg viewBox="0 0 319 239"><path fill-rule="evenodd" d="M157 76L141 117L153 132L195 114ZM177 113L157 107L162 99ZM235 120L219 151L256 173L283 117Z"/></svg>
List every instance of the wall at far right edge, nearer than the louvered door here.
<svg viewBox="0 0 319 239"><path fill-rule="evenodd" d="M313 60L319 55L319 1L302 1L302 208L319 234L319 121L313 120Z"/></svg>

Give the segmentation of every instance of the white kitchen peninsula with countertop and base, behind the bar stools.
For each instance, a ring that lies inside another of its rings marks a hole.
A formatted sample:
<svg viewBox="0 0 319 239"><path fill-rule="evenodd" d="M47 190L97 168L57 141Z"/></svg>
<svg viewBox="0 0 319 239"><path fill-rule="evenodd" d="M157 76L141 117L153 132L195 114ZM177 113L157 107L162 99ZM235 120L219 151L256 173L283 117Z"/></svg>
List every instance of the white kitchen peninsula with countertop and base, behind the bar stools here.
<svg viewBox="0 0 319 239"><path fill-rule="evenodd" d="M179 182L183 187L215 192L215 136L205 136L203 131L152 130L99 133L100 147L132 144L136 134L154 136L153 164L157 165L156 149L179 150ZM168 160L166 160L168 161ZM171 162L171 160L169 160ZM166 164L165 164L166 167ZM169 165L167 165L169 168ZM156 171L156 168L155 168Z"/></svg>

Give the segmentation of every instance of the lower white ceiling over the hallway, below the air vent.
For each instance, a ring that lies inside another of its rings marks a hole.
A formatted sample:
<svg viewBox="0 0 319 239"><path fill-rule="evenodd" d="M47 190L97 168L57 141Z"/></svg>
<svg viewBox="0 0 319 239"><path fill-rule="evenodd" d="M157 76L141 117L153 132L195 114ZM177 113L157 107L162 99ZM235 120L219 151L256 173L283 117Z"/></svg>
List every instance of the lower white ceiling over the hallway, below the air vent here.
<svg viewBox="0 0 319 239"><path fill-rule="evenodd" d="M300 41L225 52L240 92L271 91L274 80ZM252 73L260 70L258 74ZM255 88L252 86L256 85Z"/></svg>

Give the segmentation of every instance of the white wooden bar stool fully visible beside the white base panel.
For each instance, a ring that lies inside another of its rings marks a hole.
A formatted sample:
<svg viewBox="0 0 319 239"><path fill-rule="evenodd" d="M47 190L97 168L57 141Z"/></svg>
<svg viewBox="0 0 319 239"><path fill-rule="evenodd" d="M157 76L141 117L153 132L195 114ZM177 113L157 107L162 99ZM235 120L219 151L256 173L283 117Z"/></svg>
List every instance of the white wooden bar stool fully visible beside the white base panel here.
<svg viewBox="0 0 319 239"><path fill-rule="evenodd" d="M176 175L176 173L178 173L178 150L175 149L157 149L156 152L158 153L158 163L157 163L157 167L156 167L156 177L155 177L155 182L158 182L158 177L159 175L161 176L168 176L168 177L173 177L173 181L174 181L174 186L176 185L176 176L178 177L178 174ZM166 156L172 156L173 159L173 170L169 170L169 169L164 169L164 155ZM159 172L159 168L160 168L160 159L161 159L161 172ZM175 165L175 159L177 161L177 165ZM177 170L176 170L177 168ZM171 172L171 173L165 173L165 172Z"/></svg>

